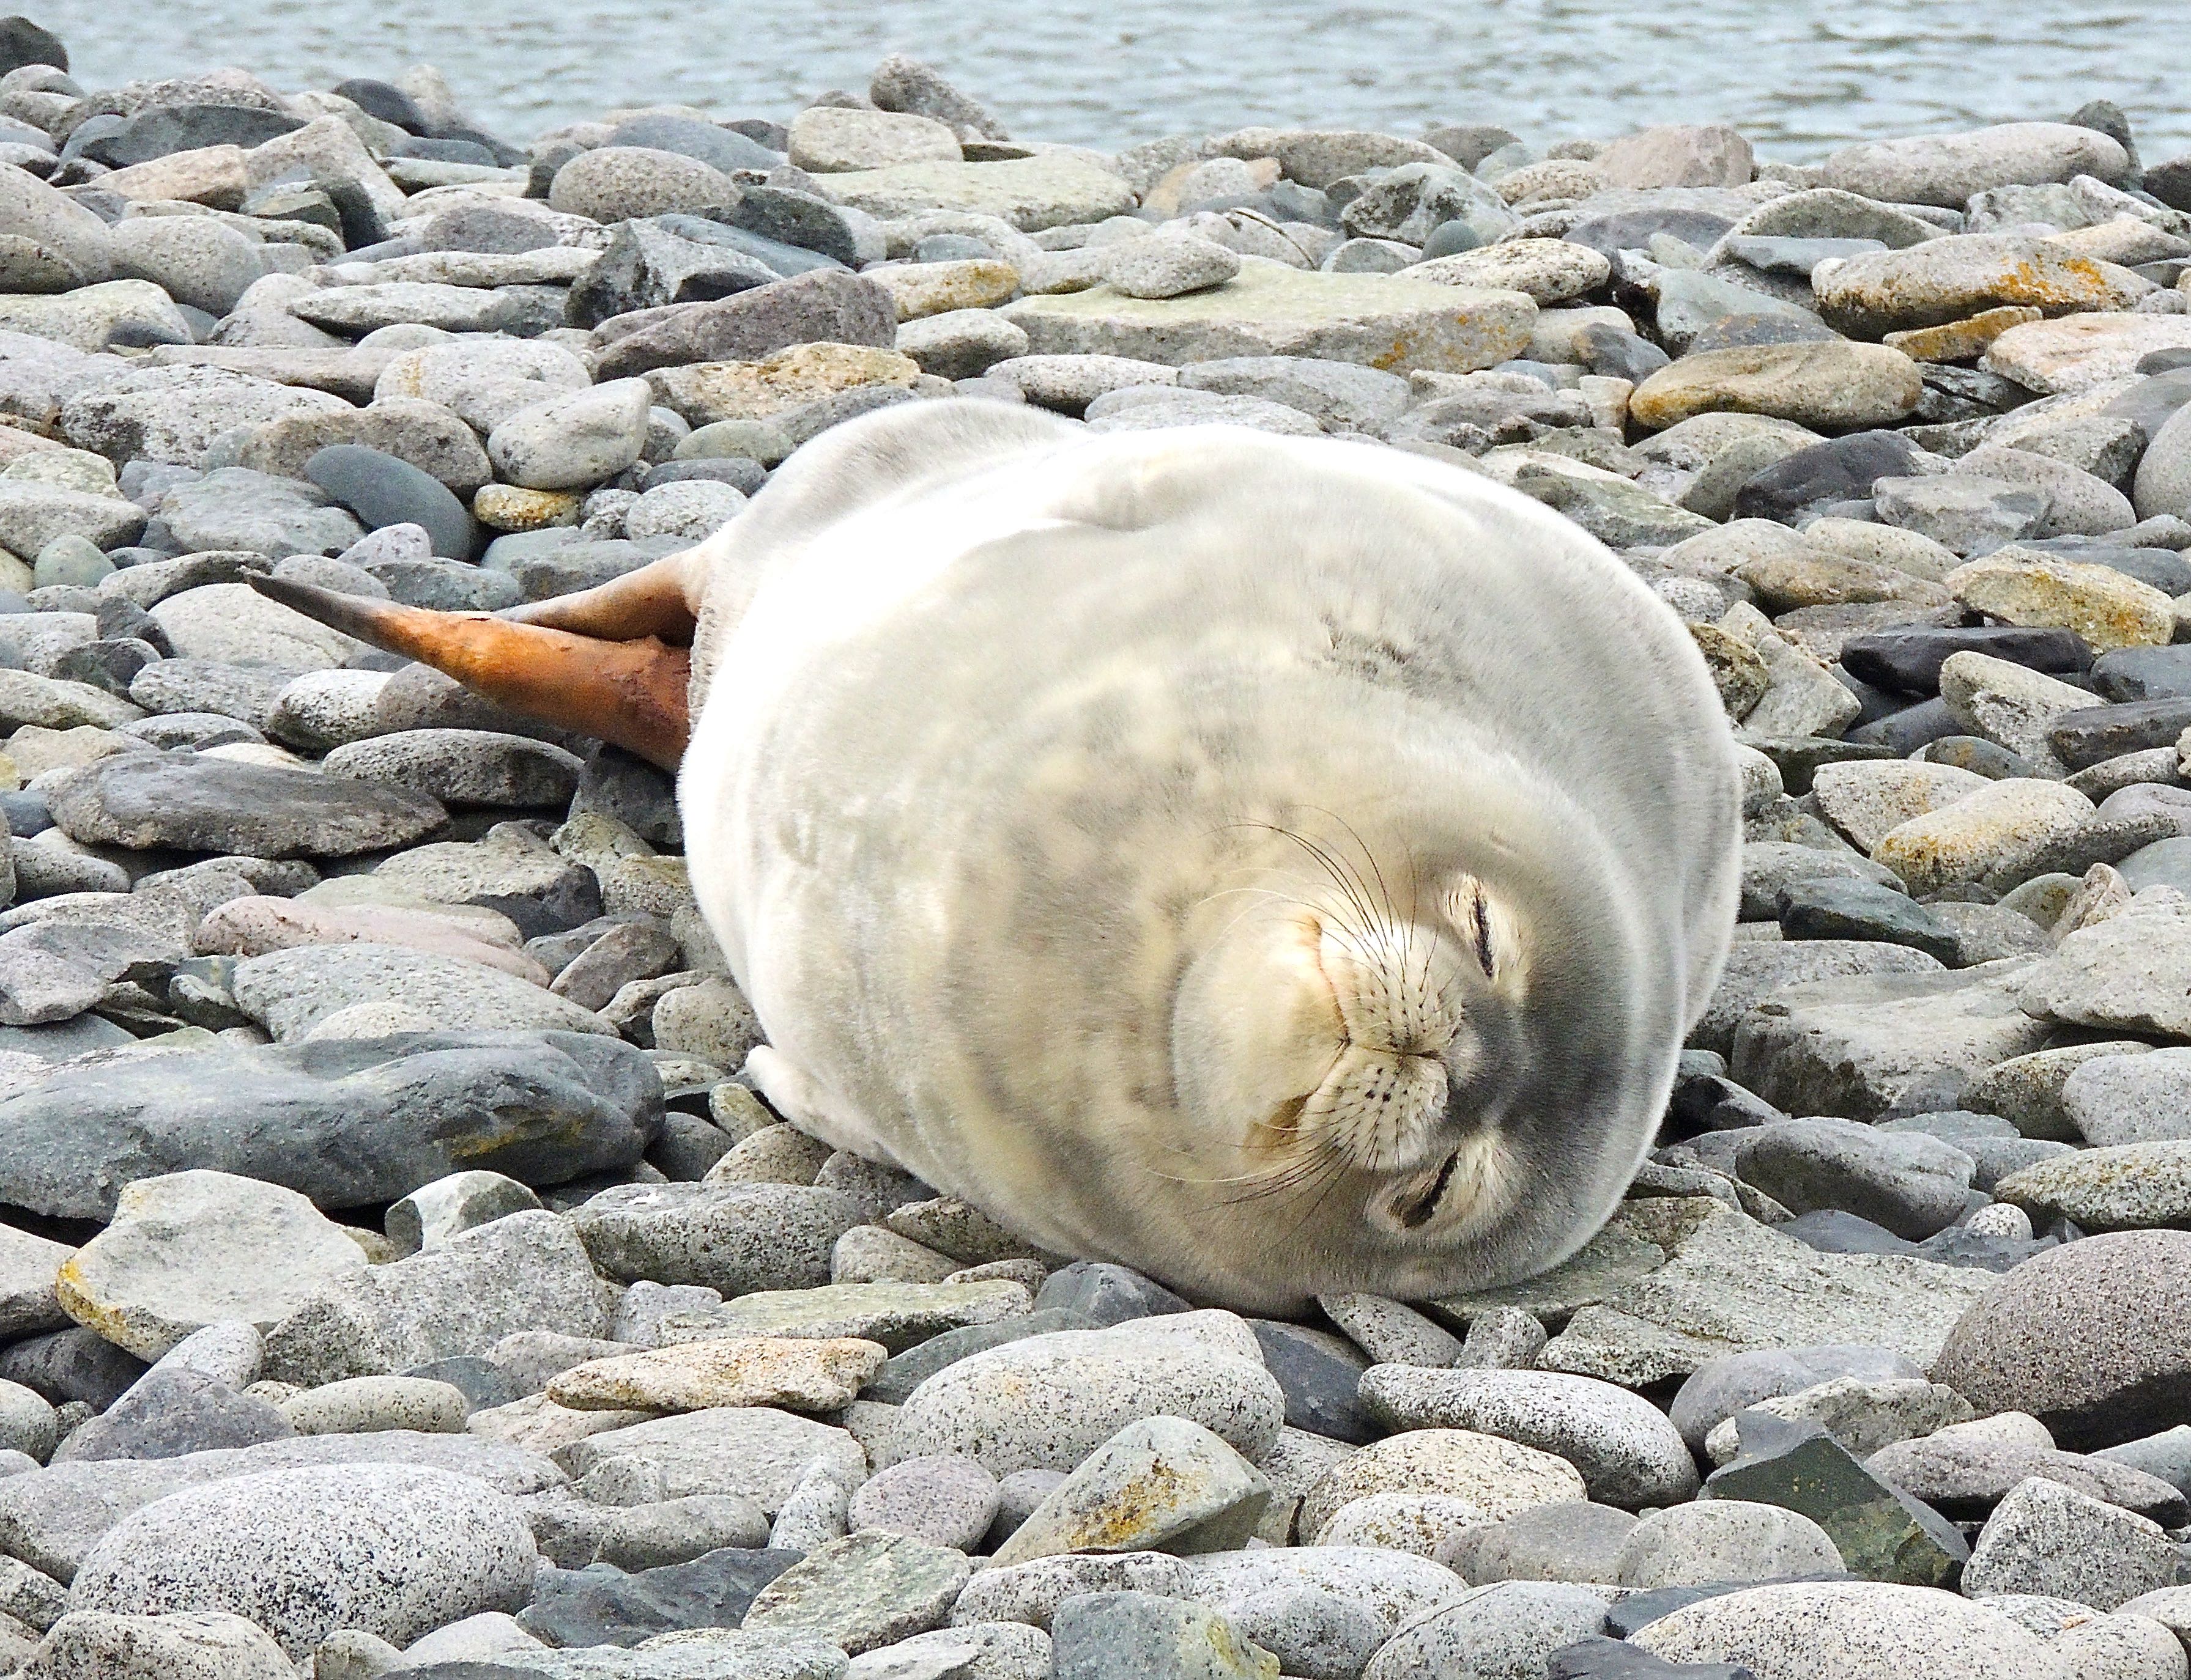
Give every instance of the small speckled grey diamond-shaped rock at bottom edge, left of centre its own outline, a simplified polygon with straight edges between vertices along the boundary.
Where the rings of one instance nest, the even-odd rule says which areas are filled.
[[[769,1581],[741,1625],[870,1652],[942,1625],[968,1573],[966,1557],[949,1546],[901,1533],[854,1533],[811,1551]]]

